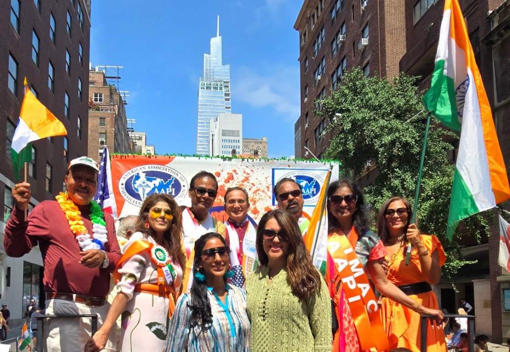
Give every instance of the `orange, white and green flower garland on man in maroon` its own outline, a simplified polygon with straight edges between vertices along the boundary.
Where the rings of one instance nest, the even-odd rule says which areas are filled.
[[[60,209],[64,212],[69,228],[78,241],[80,248],[82,250],[105,250],[105,243],[108,242],[108,232],[106,230],[105,214],[101,207],[94,200],[91,200],[90,220],[92,221],[93,236],[90,236],[82,220],[82,213],[74,202],[69,199],[69,194],[60,192],[55,199],[57,199]]]

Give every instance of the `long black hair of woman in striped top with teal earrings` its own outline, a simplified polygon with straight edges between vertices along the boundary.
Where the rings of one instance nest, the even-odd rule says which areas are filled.
[[[202,250],[207,241],[211,238],[219,238],[226,247],[225,239],[216,232],[209,232],[200,236],[195,241],[195,259],[193,260],[193,272],[200,272],[205,275],[203,268],[200,268],[202,262]],[[223,276],[226,283],[226,279]],[[213,323],[213,314],[211,313],[211,303],[207,293],[207,283],[205,281],[193,280],[190,289],[190,303],[188,307],[191,309],[191,326],[201,326],[202,331],[208,330]]]

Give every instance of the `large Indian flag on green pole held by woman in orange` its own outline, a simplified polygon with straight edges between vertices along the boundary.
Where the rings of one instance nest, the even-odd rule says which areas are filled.
[[[458,223],[510,198],[491,107],[457,0],[445,0],[427,110],[460,131],[447,235]]]

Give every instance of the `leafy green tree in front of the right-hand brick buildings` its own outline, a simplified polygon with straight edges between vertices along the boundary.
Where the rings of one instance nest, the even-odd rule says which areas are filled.
[[[325,158],[340,160],[341,172],[353,179],[375,168],[371,171],[375,179],[364,189],[373,215],[392,196],[401,195],[411,202],[414,199],[426,122],[416,82],[416,77],[404,73],[392,82],[366,78],[361,69],[355,68],[316,111],[316,115],[329,119],[326,133],[334,135],[323,154]],[[432,125],[417,211],[420,230],[438,235],[445,247],[448,261],[443,273],[447,276],[467,263],[460,259],[458,235],[451,243],[446,238],[454,171],[450,159],[456,139],[440,124]],[[478,238],[488,231],[487,224],[480,220],[483,218],[470,219],[464,227]]]

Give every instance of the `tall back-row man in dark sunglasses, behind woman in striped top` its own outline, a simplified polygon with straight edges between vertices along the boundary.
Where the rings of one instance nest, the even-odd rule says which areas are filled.
[[[218,194],[218,181],[211,172],[200,171],[191,178],[188,195],[191,207],[181,207],[183,212],[184,246],[186,248],[186,272],[191,273],[193,266],[193,248],[195,241],[208,232],[216,232],[225,237],[225,225],[211,216],[211,210]],[[186,279],[185,279],[186,280]],[[187,288],[191,287],[193,278],[188,275]]]

